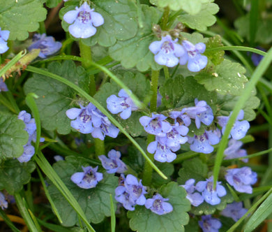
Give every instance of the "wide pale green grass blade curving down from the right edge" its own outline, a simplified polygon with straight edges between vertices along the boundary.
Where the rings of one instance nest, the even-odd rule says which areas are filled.
[[[240,110],[243,108],[245,101],[248,100],[248,97],[250,96],[252,89],[254,89],[255,85],[257,84],[259,78],[262,77],[262,75],[266,71],[266,68],[268,68],[269,64],[271,63],[271,60],[272,60],[272,48],[269,50],[269,52],[267,52],[266,57],[262,59],[262,61],[259,63],[259,66],[257,66],[255,72],[252,74],[252,77],[250,78],[248,85],[245,87],[245,89],[243,90],[243,93],[241,94],[240,99],[236,102],[234,106],[232,115],[229,117],[229,121],[227,122],[227,126],[225,129],[225,133],[222,136],[222,140],[220,142],[220,145],[218,147],[218,152],[216,154],[216,161],[213,168],[214,187],[216,187],[216,182],[218,180],[220,166],[222,164],[222,159],[224,156],[224,150],[227,147],[229,133],[232,130],[232,126],[234,125],[236,117],[239,114]]]

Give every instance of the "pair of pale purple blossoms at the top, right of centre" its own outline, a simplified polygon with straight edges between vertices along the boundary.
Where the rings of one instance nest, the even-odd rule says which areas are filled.
[[[155,54],[155,61],[160,65],[174,67],[177,64],[187,64],[187,67],[192,72],[198,72],[205,68],[208,63],[208,58],[201,55],[206,50],[204,43],[193,45],[189,41],[182,41],[182,44],[174,41],[171,36],[162,37],[161,41],[154,41],[149,45],[149,50]]]

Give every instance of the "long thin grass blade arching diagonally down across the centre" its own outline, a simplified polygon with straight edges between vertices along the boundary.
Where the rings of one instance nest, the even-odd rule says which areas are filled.
[[[95,63],[93,63],[93,64],[95,64]],[[103,66],[99,66],[97,64],[96,64],[96,66],[102,67],[103,70],[107,71],[107,69],[105,69]],[[164,179],[167,179],[167,177],[160,171],[160,169],[151,161],[151,159],[149,159],[149,157],[146,155],[146,153],[144,152],[144,150],[142,149],[142,147],[140,147],[139,144],[135,141],[135,139],[133,137],[131,137],[128,132],[126,132],[126,130],[123,128],[123,126],[121,126],[121,124],[119,122],[117,122],[116,119],[114,119],[114,117],[112,117],[112,115],[110,115],[107,112],[107,110],[105,108],[103,108],[103,106],[101,106],[100,103],[98,103],[98,101],[96,101],[96,99],[93,99],[93,97],[91,97],[89,94],[87,94],[86,92],[84,92],[84,90],[82,90],[80,87],[78,87],[77,85],[75,85],[73,82],[70,82],[69,80],[66,80],[65,78],[61,78],[61,76],[59,76],[59,75],[56,75],[54,73],[50,73],[48,71],[45,71],[45,70],[42,70],[40,68],[36,68],[36,67],[33,67],[33,66],[28,66],[26,69],[27,69],[27,71],[31,71],[33,73],[38,73],[38,74],[41,74],[41,75],[45,75],[45,76],[48,76],[48,77],[53,78],[55,80],[59,80],[60,82],[63,82],[64,84],[68,85],[69,87],[75,89],[75,91],[77,91],[86,100],[88,100],[91,103],[93,103],[93,105],[96,106],[96,108],[98,108],[104,115],[106,115],[108,117],[108,119],[115,126],[117,126],[120,129],[120,131],[131,141],[131,143],[133,143],[133,145],[135,145],[135,147],[137,147],[137,149],[139,150],[139,152],[142,153],[142,155],[144,156],[144,158],[146,159],[146,161],[149,162],[149,164],[153,167],[153,169],[161,177],[163,177]],[[113,75],[110,72],[107,73],[107,74]],[[114,75],[114,77],[116,78],[115,75]],[[126,87],[126,89],[128,89],[128,88]]]

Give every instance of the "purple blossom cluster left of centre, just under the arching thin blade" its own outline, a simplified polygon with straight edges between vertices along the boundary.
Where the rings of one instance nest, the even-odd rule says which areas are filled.
[[[71,121],[71,126],[80,133],[91,133],[93,138],[100,140],[104,140],[105,136],[112,138],[118,136],[119,129],[92,103],[86,107],[80,105],[80,108],[71,108],[66,111],[66,115],[70,119],[75,119]]]

